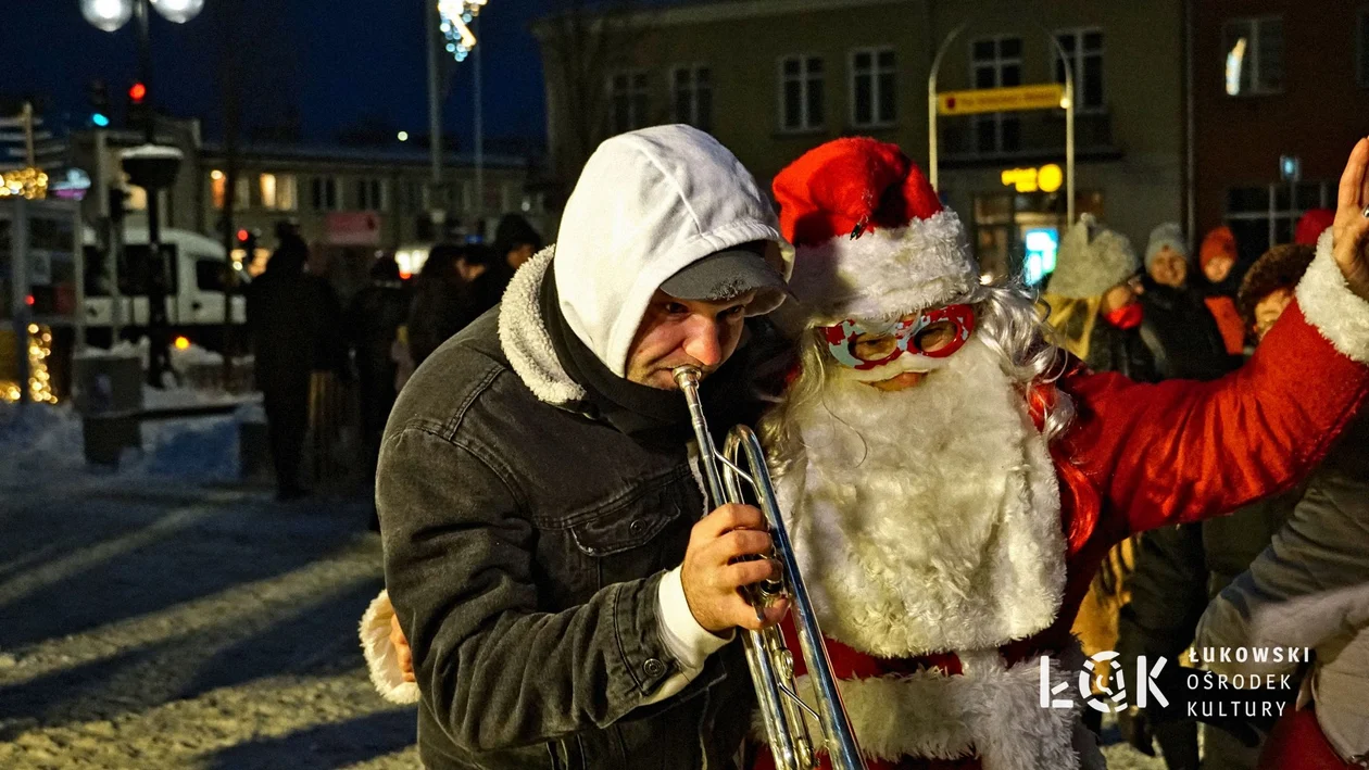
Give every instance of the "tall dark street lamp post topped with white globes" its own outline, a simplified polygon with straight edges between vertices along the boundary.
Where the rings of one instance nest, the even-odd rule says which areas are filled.
[[[123,167],[133,183],[148,193],[148,257],[153,274],[148,291],[148,338],[152,343],[148,356],[148,384],[162,387],[162,375],[171,367],[168,350],[171,341],[166,308],[170,287],[162,254],[162,201],[159,193],[175,179],[181,153],[174,148],[156,146],[156,114],[149,98],[153,8],[166,21],[183,25],[200,15],[200,11],[204,10],[204,0],[81,0],[81,14],[92,25],[105,31],[115,31],[130,18],[138,18],[138,81],[134,83],[138,96],[130,92],[130,97],[141,103],[145,109],[146,119],[142,131],[146,144],[126,152]]]

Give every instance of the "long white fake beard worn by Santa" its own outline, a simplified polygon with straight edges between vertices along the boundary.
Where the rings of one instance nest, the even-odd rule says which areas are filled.
[[[790,420],[806,458],[779,502],[824,635],[893,658],[997,647],[1054,621],[1055,470],[979,338],[904,391],[838,373]]]

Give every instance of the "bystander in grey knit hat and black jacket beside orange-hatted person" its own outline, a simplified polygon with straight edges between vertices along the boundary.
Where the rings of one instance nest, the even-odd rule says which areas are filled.
[[[1165,223],[1151,231],[1146,274],[1140,301],[1154,332],[1151,351],[1162,379],[1212,380],[1239,364],[1227,353],[1216,319],[1190,284],[1188,246],[1177,224]]]

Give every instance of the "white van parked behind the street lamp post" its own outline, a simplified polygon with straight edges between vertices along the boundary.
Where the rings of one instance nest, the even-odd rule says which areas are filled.
[[[148,230],[125,228],[123,258],[119,263],[120,324],[125,338],[145,334],[148,327]],[[94,230],[85,228],[85,324],[93,345],[107,345],[114,317],[110,276],[97,248]],[[162,250],[167,254],[170,284],[167,321],[172,335],[216,350],[223,338],[223,276],[229,268],[223,243],[188,230],[162,230]],[[233,324],[246,323],[248,276],[238,271],[233,294]]]

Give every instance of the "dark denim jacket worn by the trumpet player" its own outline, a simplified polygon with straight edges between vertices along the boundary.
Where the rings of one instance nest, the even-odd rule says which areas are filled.
[[[642,446],[534,395],[530,380],[548,386],[535,369],[550,362],[537,360],[535,334],[511,338],[539,319],[497,317],[528,310],[507,297],[439,347],[386,429],[385,576],[423,693],[422,759],[731,767],[753,703],[738,643],[682,692],[642,706],[679,670],[657,585],[704,512],[687,450]]]

